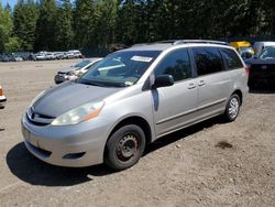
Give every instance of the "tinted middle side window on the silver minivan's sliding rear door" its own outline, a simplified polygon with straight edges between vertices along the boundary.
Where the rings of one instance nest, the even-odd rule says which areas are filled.
[[[193,48],[198,76],[213,74],[223,70],[221,54],[213,47]]]

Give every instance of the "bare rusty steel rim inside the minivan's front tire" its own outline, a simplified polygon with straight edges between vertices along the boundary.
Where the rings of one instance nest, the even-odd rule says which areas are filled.
[[[117,146],[117,156],[120,161],[127,162],[136,155],[138,148],[139,142],[135,135],[124,135]]]

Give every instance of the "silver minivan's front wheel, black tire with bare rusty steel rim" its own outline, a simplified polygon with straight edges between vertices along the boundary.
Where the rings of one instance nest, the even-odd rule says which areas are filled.
[[[136,164],[145,149],[145,134],[135,124],[117,130],[107,141],[105,163],[116,171]]]

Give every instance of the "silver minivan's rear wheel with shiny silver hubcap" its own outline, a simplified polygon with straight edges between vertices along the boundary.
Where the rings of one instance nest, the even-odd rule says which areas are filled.
[[[237,119],[240,112],[241,101],[237,94],[233,94],[227,105],[226,111],[223,113],[224,119],[228,122],[232,122]]]

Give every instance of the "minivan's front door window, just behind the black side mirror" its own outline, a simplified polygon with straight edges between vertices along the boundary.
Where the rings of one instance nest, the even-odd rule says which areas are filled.
[[[191,77],[191,65],[187,50],[170,52],[155,69],[155,76],[172,75],[175,81]]]

